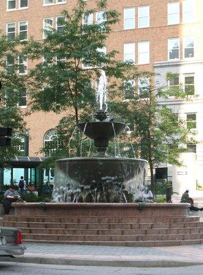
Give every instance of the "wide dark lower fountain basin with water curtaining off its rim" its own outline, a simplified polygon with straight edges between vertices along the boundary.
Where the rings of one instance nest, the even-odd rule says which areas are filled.
[[[143,159],[58,159],[52,197],[56,202],[131,202],[145,185],[146,173]]]

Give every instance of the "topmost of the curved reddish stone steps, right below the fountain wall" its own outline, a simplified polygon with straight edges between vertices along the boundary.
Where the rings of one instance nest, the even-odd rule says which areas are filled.
[[[4,216],[4,221],[29,221],[43,223],[182,223],[199,221],[199,216],[192,217],[131,217],[131,218],[108,218],[108,217],[21,217]]]

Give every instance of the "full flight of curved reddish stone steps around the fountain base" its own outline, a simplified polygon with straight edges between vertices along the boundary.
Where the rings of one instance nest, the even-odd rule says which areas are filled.
[[[200,217],[4,216],[0,225],[21,229],[23,241],[86,245],[166,246],[203,243]]]

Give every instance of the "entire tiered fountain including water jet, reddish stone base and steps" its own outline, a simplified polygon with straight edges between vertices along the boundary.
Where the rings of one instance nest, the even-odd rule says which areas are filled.
[[[147,162],[106,154],[109,140],[125,124],[109,120],[106,78],[98,85],[96,121],[78,124],[94,140],[97,154],[56,161],[52,203],[13,203],[14,217],[1,225],[18,226],[25,241],[160,246],[202,243],[203,223],[187,217],[188,203],[134,202],[145,184]]]

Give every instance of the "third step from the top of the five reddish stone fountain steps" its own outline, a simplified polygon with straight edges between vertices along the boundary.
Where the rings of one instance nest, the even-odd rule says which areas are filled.
[[[23,234],[41,234],[41,228],[21,228]],[[43,234],[65,234],[65,235],[151,235],[151,234],[203,234],[203,228],[175,228],[175,229],[64,229],[43,228]]]

